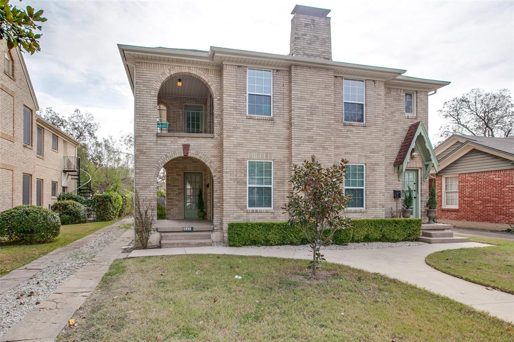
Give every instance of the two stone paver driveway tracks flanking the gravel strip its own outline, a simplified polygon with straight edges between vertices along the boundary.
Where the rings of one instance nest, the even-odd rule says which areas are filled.
[[[118,226],[131,219],[118,221],[109,226]],[[41,270],[49,267],[75,249],[99,237],[109,227],[57,249],[24,267],[14,270],[0,278],[0,293],[14,288]],[[127,230],[114,242],[100,251],[87,264],[71,275],[45,300],[34,307],[22,320],[0,337],[0,342],[7,341],[53,341],[66,326],[68,319],[80,308],[86,298],[95,290],[109,265],[122,257],[121,247],[126,246],[134,237],[133,230]],[[126,254],[125,254],[126,256]]]

